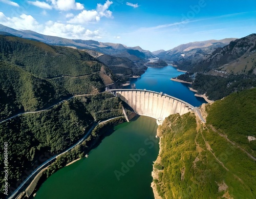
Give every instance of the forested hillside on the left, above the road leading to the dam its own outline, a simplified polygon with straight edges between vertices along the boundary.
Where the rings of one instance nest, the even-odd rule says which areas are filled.
[[[88,53],[0,35],[0,119],[72,95],[99,93],[116,79]]]

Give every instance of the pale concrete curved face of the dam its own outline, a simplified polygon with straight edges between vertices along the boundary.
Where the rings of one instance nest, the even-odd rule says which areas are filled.
[[[129,104],[141,116],[164,120],[171,114],[186,114],[195,107],[167,94],[146,90],[119,89],[110,90],[115,96]]]

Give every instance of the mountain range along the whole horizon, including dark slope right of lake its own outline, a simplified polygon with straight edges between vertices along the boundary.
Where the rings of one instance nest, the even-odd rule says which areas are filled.
[[[140,47],[126,47],[120,43],[66,39],[29,30],[14,30],[3,25],[0,25],[0,34],[83,50],[107,65],[119,76],[121,82],[127,81],[132,75],[143,74],[146,67],[150,66],[145,64],[148,59],[158,57],[160,62],[168,61],[179,70],[187,71],[188,73],[178,79],[193,82],[191,87],[197,90],[198,94],[206,94],[212,100],[256,86],[256,34],[240,39],[190,42],[168,51],[158,50],[153,53]],[[18,60],[16,62],[20,64]]]

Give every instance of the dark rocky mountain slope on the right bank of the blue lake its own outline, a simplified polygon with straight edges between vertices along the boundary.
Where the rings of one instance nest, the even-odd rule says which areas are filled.
[[[231,41],[208,58],[188,65],[187,73],[177,78],[192,82],[198,94],[211,100],[222,99],[233,92],[256,87],[256,34]],[[184,65],[178,65],[183,69]]]

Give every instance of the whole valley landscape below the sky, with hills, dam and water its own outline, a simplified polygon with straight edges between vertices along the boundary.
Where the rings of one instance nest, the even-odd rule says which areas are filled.
[[[142,172],[141,168],[131,166],[131,176],[125,175],[126,180],[119,182],[113,179],[114,165],[108,160],[98,163],[97,158],[112,151],[109,156],[115,154],[119,159],[111,162],[120,166],[119,162],[123,161],[120,143],[129,147],[137,143],[135,153],[137,147],[144,147],[147,136],[156,134],[160,142],[154,139],[154,150],[152,153],[148,150],[144,157],[150,160],[138,163],[146,168],[137,185],[142,183],[143,188],[138,189],[137,195],[132,191],[125,193],[127,198],[255,197],[256,142],[248,141],[248,136],[256,136],[253,121],[256,113],[255,34],[240,39],[187,43],[152,53],[120,43],[65,39],[3,25],[0,31],[0,139],[11,146],[8,183],[9,193],[14,194],[10,198],[19,193],[22,193],[20,198],[27,198],[25,189],[32,178],[28,183],[25,181],[30,175],[34,177],[41,165],[45,170],[38,184],[33,185],[38,191],[36,198],[58,197],[65,185],[61,185],[54,196],[55,189],[51,190],[49,183],[72,177],[72,170],[80,164],[101,176],[108,185],[113,183],[112,188],[123,190],[136,178],[137,171]],[[176,77],[183,83],[170,80]],[[123,85],[127,81],[130,85]],[[129,89],[136,90],[124,92]],[[116,91],[118,97],[109,90]],[[206,101],[192,91],[214,102],[203,104]],[[162,119],[163,123],[157,127],[156,120],[137,118],[135,113],[154,115],[153,118]],[[129,120],[131,122],[126,123]],[[133,131],[134,125],[140,130]],[[131,126],[127,132],[125,126]],[[124,131],[127,140],[120,136]],[[108,144],[104,144],[105,140]],[[110,149],[115,145],[120,154]],[[89,158],[84,158],[89,153]],[[3,163],[1,161],[1,167]],[[108,171],[104,172],[105,169]],[[148,177],[152,169],[155,196],[150,192],[152,179]],[[63,174],[65,170],[69,176]],[[243,172],[245,170],[248,172]],[[76,172],[90,176],[88,170]],[[99,182],[91,178],[94,175],[88,184]],[[81,179],[78,181],[81,184]],[[1,179],[2,190],[3,182]],[[20,184],[25,186],[17,190]],[[92,194],[101,198],[104,191],[100,194],[99,190],[105,186],[100,183],[98,186],[97,196],[88,186],[88,194],[81,191],[76,197]],[[108,190],[105,194],[112,197],[115,191],[111,187]],[[34,189],[29,191],[29,198],[32,193]],[[3,191],[1,194],[4,198]],[[72,196],[72,193],[65,194]],[[119,197],[121,192],[115,194]]]

